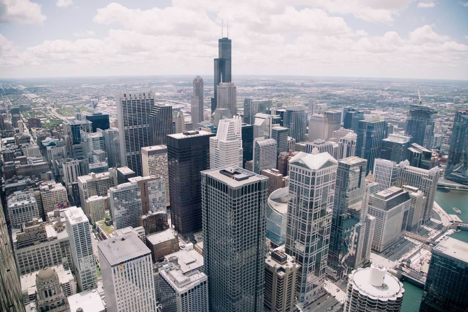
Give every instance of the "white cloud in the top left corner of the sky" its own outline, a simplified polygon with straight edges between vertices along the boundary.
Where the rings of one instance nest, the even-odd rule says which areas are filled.
[[[0,0],[0,23],[42,25],[47,19],[41,5],[29,0]]]

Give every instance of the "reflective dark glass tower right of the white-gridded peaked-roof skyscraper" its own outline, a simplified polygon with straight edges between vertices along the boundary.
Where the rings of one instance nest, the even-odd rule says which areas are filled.
[[[366,247],[366,162],[358,157],[338,160],[327,263],[335,280],[366,262],[362,259]]]

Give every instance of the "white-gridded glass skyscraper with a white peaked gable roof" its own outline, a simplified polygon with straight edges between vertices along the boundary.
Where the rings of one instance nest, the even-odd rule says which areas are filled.
[[[289,160],[285,252],[301,265],[298,298],[310,300],[323,290],[338,162],[329,153],[299,152]],[[309,218],[308,216],[312,216]]]

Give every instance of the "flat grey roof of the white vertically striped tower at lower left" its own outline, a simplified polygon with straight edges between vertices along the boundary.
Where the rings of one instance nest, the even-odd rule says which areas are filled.
[[[149,248],[133,233],[102,240],[97,243],[97,247],[111,266],[151,254]]]

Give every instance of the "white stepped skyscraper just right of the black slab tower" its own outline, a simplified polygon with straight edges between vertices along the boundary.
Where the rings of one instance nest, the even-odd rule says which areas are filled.
[[[242,167],[241,120],[221,119],[216,137],[210,138],[210,169],[236,165]]]

